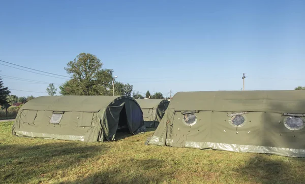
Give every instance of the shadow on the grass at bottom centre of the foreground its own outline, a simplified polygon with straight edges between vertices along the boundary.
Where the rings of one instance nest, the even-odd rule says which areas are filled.
[[[164,164],[158,159],[130,159],[111,169],[62,183],[160,183],[174,177],[174,171],[164,169]]]

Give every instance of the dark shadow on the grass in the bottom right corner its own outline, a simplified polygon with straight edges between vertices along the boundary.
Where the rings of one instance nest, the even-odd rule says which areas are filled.
[[[304,158],[277,158],[259,154],[236,169],[238,177],[255,183],[303,183]]]

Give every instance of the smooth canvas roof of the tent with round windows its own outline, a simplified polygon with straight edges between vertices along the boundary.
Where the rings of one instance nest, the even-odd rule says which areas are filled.
[[[169,108],[175,111],[249,111],[305,113],[305,92],[290,91],[201,91],[178,92]]]

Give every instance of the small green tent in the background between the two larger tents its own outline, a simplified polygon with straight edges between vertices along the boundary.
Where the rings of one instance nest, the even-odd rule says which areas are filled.
[[[169,101],[162,99],[136,99],[139,103],[146,128],[157,127],[165,114]]]

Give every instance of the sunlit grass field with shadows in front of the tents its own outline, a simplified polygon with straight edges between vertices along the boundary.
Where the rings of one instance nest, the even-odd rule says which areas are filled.
[[[114,142],[21,138],[0,123],[1,183],[305,183],[305,159]],[[123,136],[123,135],[122,135]]]

